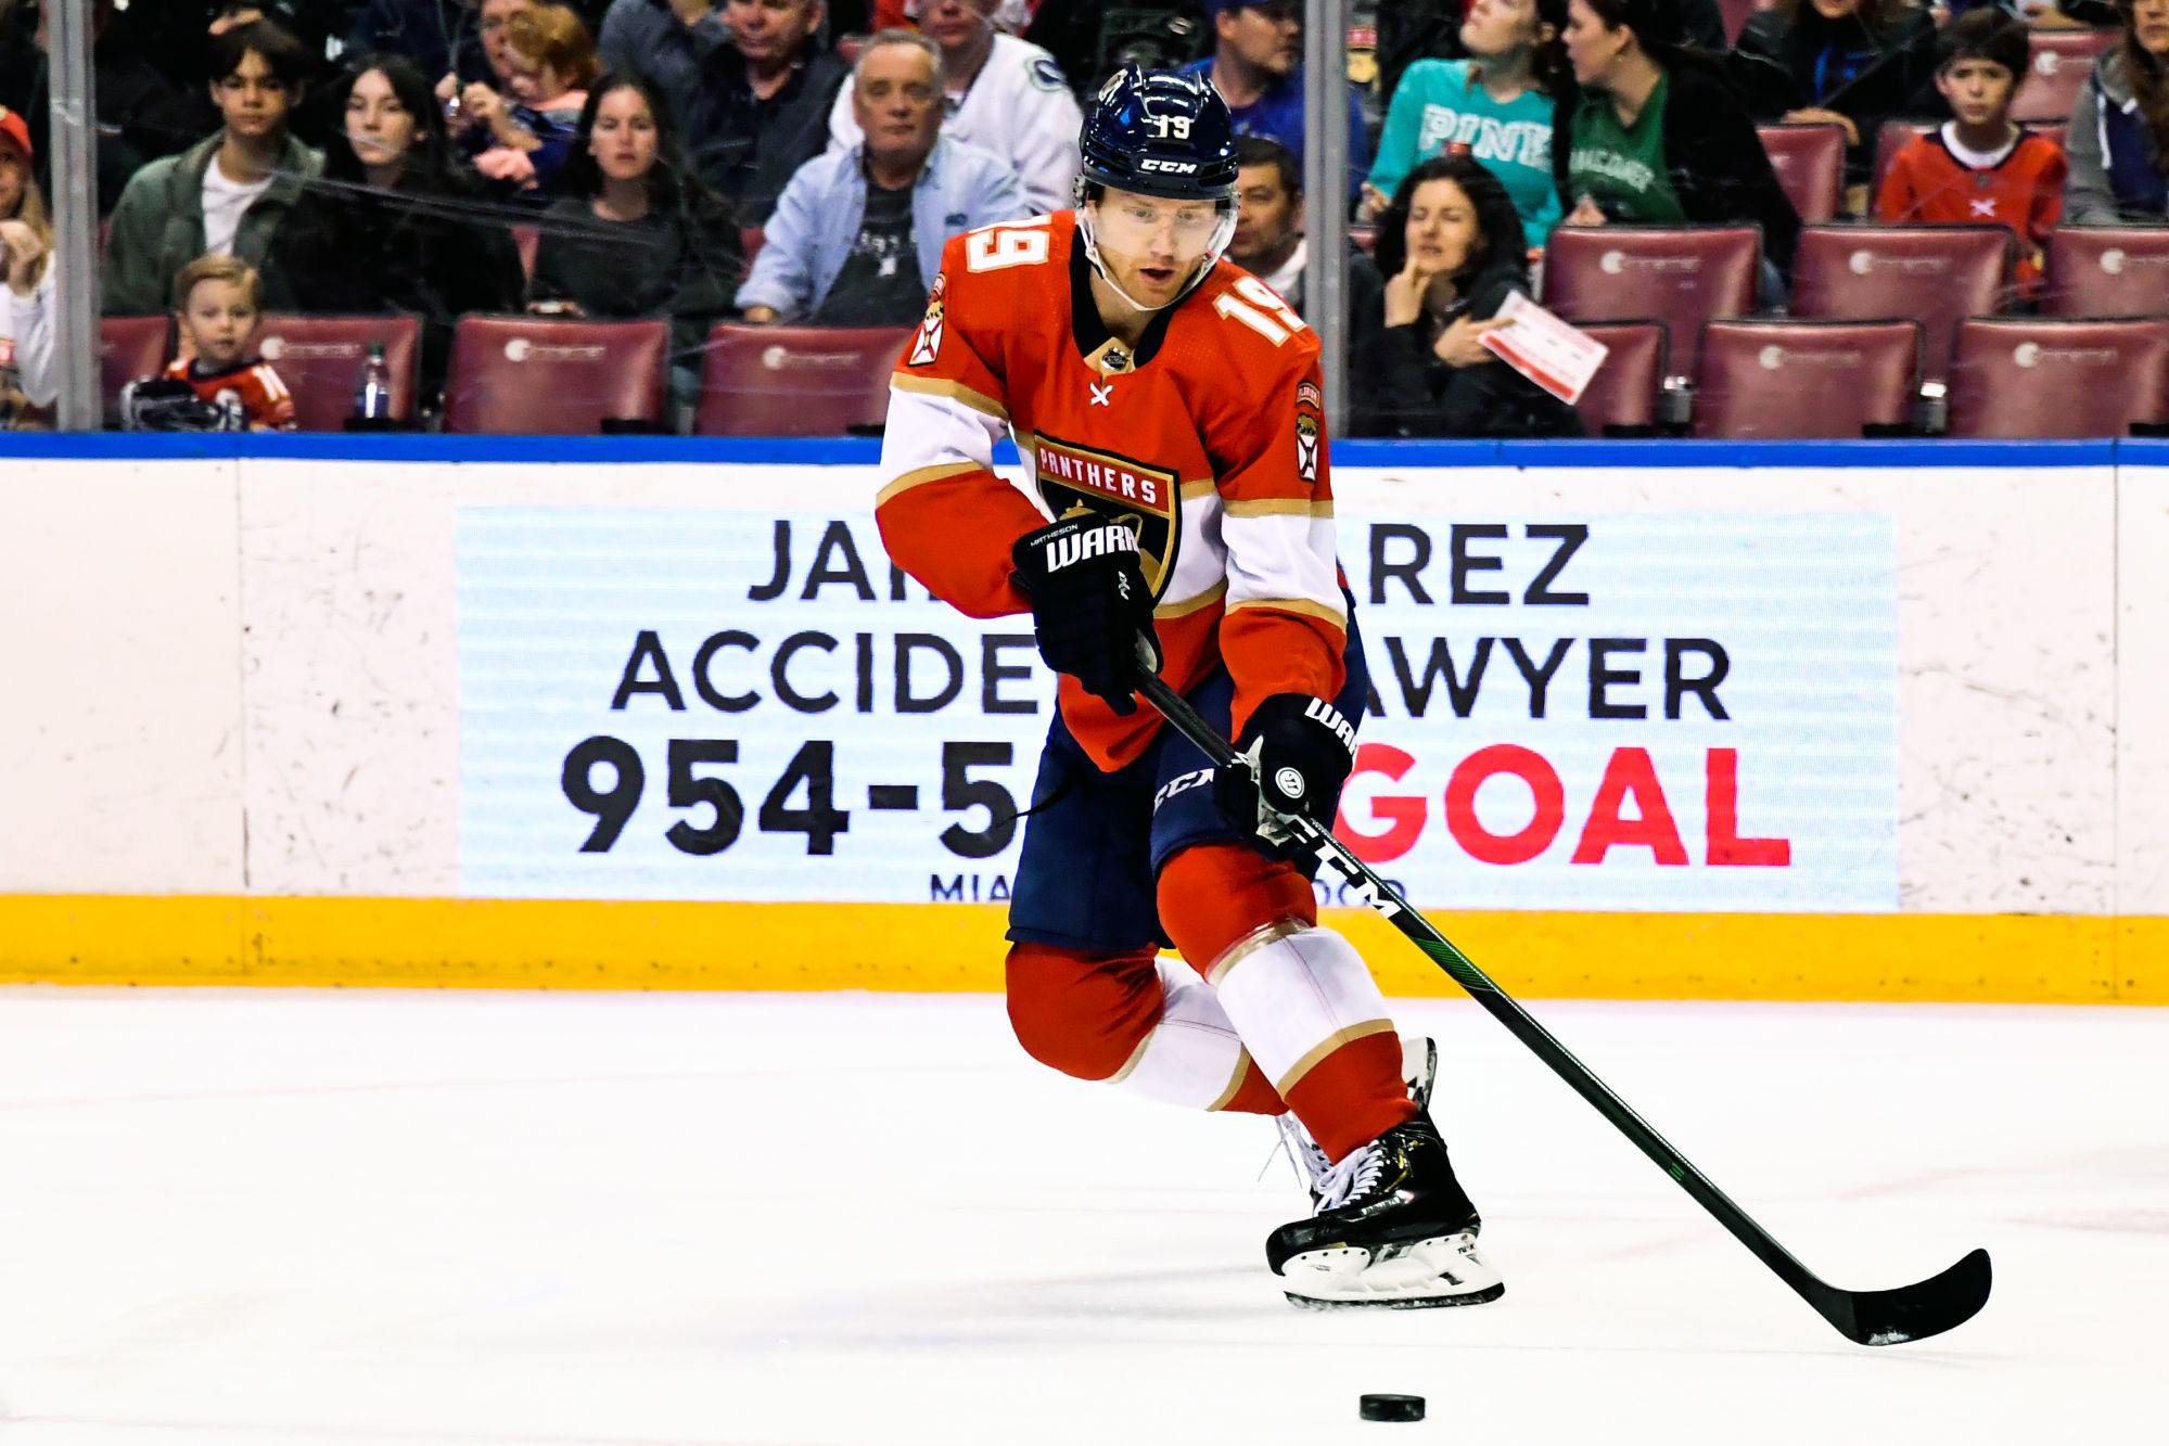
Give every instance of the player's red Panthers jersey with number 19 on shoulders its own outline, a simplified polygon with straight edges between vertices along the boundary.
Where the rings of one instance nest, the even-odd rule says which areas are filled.
[[[1028,486],[991,466],[1004,431]],[[1189,689],[1225,661],[1236,731],[1271,694],[1332,698],[1345,681],[1319,343],[1232,262],[1132,356],[1091,301],[1076,212],[952,238],[889,382],[881,470],[889,557],[974,618],[1030,611],[1011,544],[1091,509],[1139,529],[1163,676]],[[1061,709],[1102,767],[1158,726],[1067,676]]]

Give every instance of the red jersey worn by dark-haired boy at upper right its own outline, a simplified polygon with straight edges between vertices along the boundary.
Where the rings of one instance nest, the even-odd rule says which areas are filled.
[[[1950,150],[1950,124],[1907,141],[1876,195],[1876,221],[2008,225],[2019,236],[2017,282],[2041,284],[2041,247],[2063,217],[2069,163],[2048,137],[2022,132],[1995,165],[1967,165]]]

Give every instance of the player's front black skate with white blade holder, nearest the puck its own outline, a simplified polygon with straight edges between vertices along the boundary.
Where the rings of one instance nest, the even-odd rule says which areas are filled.
[[[1327,1166],[1323,1186],[1321,1199],[1332,1203],[1265,1242],[1267,1264],[1295,1305],[1421,1309],[1505,1294],[1499,1273],[1477,1255],[1484,1221],[1427,1116]]]

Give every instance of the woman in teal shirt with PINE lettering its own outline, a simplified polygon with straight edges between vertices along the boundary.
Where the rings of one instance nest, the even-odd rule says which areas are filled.
[[[1551,180],[1553,102],[1566,78],[1566,0],[1475,0],[1462,22],[1466,61],[1416,61],[1386,111],[1364,206],[1386,197],[1419,160],[1464,145],[1505,184],[1531,245],[1560,219]]]

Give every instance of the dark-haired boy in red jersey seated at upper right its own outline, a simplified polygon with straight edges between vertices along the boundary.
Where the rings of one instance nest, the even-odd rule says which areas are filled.
[[[2026,76],[2026,22],[1987,7],[1943,30],[1935,89],[1956,119],[1913,137],[1876,195],[1878,221],[2002,223],[2019,236],[2022,295],[2041,291],[2041,249],[2063,215],[2065,160],[2056,143],[2011,119]]]

